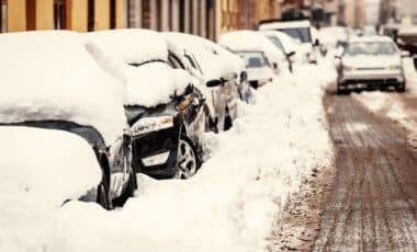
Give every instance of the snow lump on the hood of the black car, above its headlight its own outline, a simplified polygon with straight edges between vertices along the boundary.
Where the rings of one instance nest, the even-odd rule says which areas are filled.
[[[196,84],[196,79],[182,69],[172,69],[165,62],[156,61],[125,69],[125,105],[156,106],[167,104],[171,96],[184,91],[188,84]]]

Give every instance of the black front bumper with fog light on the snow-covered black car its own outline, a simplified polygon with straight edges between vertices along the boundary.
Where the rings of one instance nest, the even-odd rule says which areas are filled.
[[[168,128],[134,136],[132,152],[135,172],[157,179],[176,174],[179,129]]]

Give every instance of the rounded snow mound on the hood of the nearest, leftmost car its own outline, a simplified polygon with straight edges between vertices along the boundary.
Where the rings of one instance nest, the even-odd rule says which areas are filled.
[[[0,126],[0,142],[2,218],[59,207],[100,183],[101,169],[92,148],[75,134]]]

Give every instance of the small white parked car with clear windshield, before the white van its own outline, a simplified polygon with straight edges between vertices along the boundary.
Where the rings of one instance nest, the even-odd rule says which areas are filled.
[[[260,50],[240,50],[235,51],[246,62],[249,84],[253,89],[258,89],[264,84],[271,83],[274,73],[271,65],[263,51]]]

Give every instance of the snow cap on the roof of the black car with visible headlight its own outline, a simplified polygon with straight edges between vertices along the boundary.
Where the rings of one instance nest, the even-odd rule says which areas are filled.
[[[105,54],[125,64],[168,60],[168,47],[159,33],[142,28],[110,30],[86,33]]]

